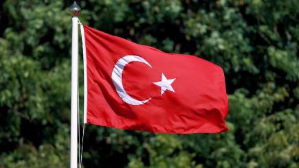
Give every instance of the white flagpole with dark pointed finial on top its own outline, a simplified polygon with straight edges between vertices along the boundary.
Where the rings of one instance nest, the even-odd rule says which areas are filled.
[[[70,167],[78,164],[78,14],[80,7],[76,1],[69,7],[72,22],[71,35],[71,158]]]

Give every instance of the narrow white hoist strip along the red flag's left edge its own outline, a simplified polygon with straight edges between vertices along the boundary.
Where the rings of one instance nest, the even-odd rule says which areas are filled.
[[[82,37],[82,49],[83,49],[83,71],[84,71],[84,110],[83,110],[83,122],[87,123],[87,62],[86,62],[86,45],[84,27],[80,24],[81,37]]]

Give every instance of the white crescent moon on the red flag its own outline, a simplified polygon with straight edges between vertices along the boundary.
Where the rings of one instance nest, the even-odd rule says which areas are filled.
[[[122,85],[122,71],[124,71],[124,66],[126,64],[129,64],[130,62],[137,61],[142,62],[144,64],[147,64],[149,67],[151,67],[151,64],[149,64],[146,60],[141,58],[140,56],[124,56],[116,62],[114,69],[112,71],[112,82],[116,88],[116,91],[118,92],[118,95],[120,95],[120,98],[122,98],[123,101],[125,101],[127,104],[131,105],[140,105],[145,104],[147,101],[149,101],[151,98],[146,100],[137,100],[128,95],[126,91],[124,90],[124,86]],[[152,67],[151,67],[152,68]]]

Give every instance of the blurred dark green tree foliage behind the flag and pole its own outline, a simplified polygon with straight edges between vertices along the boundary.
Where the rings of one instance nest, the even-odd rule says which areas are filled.
[[[69,166],[71,3],[0,1],[0,167]],[[299,167],[299,0],[78,4],[91,27],[219,64],[230,102],[222,134],[87,125],[85,167]]]

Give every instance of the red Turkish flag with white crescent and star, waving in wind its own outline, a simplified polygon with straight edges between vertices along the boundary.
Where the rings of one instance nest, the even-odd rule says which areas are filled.
[[[195,56],[138,45],[87,25],[83,35],[85,122],[179,134],[228,130],[221,67]]]

